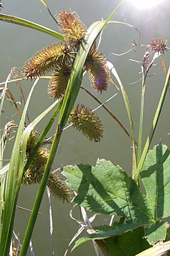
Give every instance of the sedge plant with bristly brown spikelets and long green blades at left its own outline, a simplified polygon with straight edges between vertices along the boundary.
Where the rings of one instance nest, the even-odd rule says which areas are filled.
[[[42,2],[46,6],[46,3],[44,1]],[[7,164],[6,168],[1,168],[2,200],[0,203],[0,251],[2,256],[8,255],[10,250],[15,210],[17,207],[16,204],[20,186],[22,184],[40,183],[40,187],[37,192],[35,204],[33,205],[31,217],[25,232],[20,255],[27,254],[28,245],[31,240],[33,228],[35,226],[35,221],[46,186],[57,199],[65,201],[70,194],[65,183],[59,180],[59,177],[52,171],[54,156],[56,155],[59,139],[61,138],[62,131],[67,120],[69,119],[69,122],[72,123],[76,129],[81,130],[91,141],[97,142],[100,141],[101,137],[103,137],[103,125],[97,115],[84,105],[78,105],[74,109],[73,107],[78,96],[84,72],[89,73],[92,87],[96,92],[103,92],[108,88],[110,72],[107,66],[107,61],[103,53],[99,52],[97,49],[95,41],[122,2],[120,2],[107,20],[95,22],[88,29],[86,29],[86,26],[80,21],[75,12],[63,10],[57,15],[57,20],[55,19],[60,30],[63,32],[63,35],[40,26],[39,24],[29,22],[28,20],[0,14],[0,20],[3,22],[15,23],[45,32],[46,34],[52,35],[62,41],[60,43],[54,43],[52,46],[48,46],[37,52],[34,57],[25,63],[23,68],[24,77],[22,79],[36,80],[31,88],[27,101],[25,102],[10,163]],[[126,24],[114,21],[112,21],[112,23]],[[133,27],[129,24],[127,25]],[[35,89],[39,78],[46,72],[52,70],[54,73],[50,78],[48,92],[50,97],[53,97],[56,101],[42,114],[40,114],[39,117],[25,127],[25,117],[27,115],[27,108],[33,90]],[[7,92],[8,82],[22,80],[10,80],[10,76],[11,74],[5,82],[5,87],[3,88],[1,95],[1,108]],[[45,127],[40,137],[37,138],[35,126],[47,113],[50,112],[50,110],[55,107],[56,110],[50,118],[48,125]],[[108,109],[107,111],[109,112]],[[58,114],[56,134],[53,139],[52,147],[50,148],[50,151],[48,151],[40,147],[40,145]],[[121,124],[113,114],[112,117],[117,123]],[[88,129],[89,126],[91,126],[92,129]],[[126,131],[122,124],[121,127]],[[126,134],[129,133],[126,131]],[[134,138],[132,139],[134,140]],[[2,158],[3,149],[1,148],[1,159]],[[6,170],[8,172],[6,172]],[[3,179],[4,172],[5,179]]]

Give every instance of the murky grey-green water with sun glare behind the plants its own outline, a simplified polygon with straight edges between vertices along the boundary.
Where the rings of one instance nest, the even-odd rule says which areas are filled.
[[[33,22],[42,24],[46,27],[52,28],[58,31],[58,27],[50,18],[45,7],[40,1],[4,1],[3,13],[20,16],[21,18],[32,20]],[[114,0],[86,0],[86,1],[48,1],[50,10],[61,11],[63,9],[71,9],[77,11],[82,21],[86,23],[87,27],[90,26],[95,20],[104,19],[111,14],[111,11],[116,7],[120,1]],[[169,26],[170,26],[170,8],[167,1],[163,1],[158,7],[139,10],[132,7],[125,1],[124,5],[117,11],[113,19],[120,20],[122,22],[128,22],[138,27],[141,31],[141,43],[148,44],[154,38],[165,38],[170,42]],[[10,69],[12,67],[21,67],[24,62],[29,59],[36,51],[48,46],[55,42],[55,38],[42,34],[41,32],[33,31],[28,28],[15,26],[14,24],[0,23],[1,28],[1,81],[5,81]],[[103,33],[103,39],[100,45],[100,50],[107,56],[108,60],[114,64],[118,74],[126,88],[129,96],[130,105],[134,118],[134,126],[136,137],[138,135],[138,122],[139,122],[139,107],[140,107],[140,95],[141,95],[141,83],[138,82],[134,85],[129,83],[140,79],[141,71],[140,64],[134,63],[129,59],[142,60],[142,57],[146,51],[146,48],[137,48],[136,52],[131,51],[124,56],[114,56],[112,52],[122,53],[129,49],[130,42],[137,40],[138,34],[135,30],[121,26],[120,24],[109,24],[105,28]],[[170,51],[164,56],[167,67],[170,63]],[[152,117],[155,114],[155,108],[158,105],[160,93],[163,88],[165,76],[163,69],[159,64],[151,73],[155,73],[155,76],[148,78],[146,84],[146,98],[145,98],[145,129],[144,134],[147,135],[151,127]],[[32,82],[22,82],[23,91],[27,95],[31,88]],[[29,118],[32,120],[39,115],[47,106],[49,106],[53,100],[49,98],[46,87],[48,81],[40,81],[36,87],[36,90],[32,97],[32,102],[29,107]],[[83,80],[83,85],[92,91],[90,87],[90,81],[87,77]],[[19,95],[18,88],[15,84],[9,85],[12,93],[17,98]],[[108,92],[101,95],[97,95],[101,101],[107,100],[117,90],[110,86]],[[96,94],[96,93],[95,93]],[[19,100],[19,97],[18,97]],[[165,144],[170,145],[169,135],[170,122],[169,122],[169,95],[165,100],[163,113],[158,123],[158,129],[155,133],[154,141],[152,145],[162,141]],[[80,92],[77,100],[79,103],[83,103],[90,108],[96,108],[97,104],[83,91]],[[108,108],[120,119],[122,123],[129,129],[128,117],[124,101],[122,100],[121,93],[107,104]],[[6,111],[4,113],[4,119],[15,119],[14,110]],[[88,163],[95,164],[96,159],[105,158],[111,160],[115,165],[120,164],[124,170],[129,174],[131,173],[131,141],[120,130],[117,123],[111,119],[111,117],[105,112],[105,110],[97,110],[100,118],[103,120],[105,135],[104,139],[100,143],[89,142],[87,138],[83,137],[78,131],[72,128],[65,131],[61,138],[60,146],[61,151],[56,155],[54,162],[54,168],[65,166],[66,164],[75,163]],[[48,119],[43,120],[38,126],[38,130],[41,131]],[[55,131],[55,125],[50,131],[50,135],[53,135]],[[145,142],[146,137],[143,139]],[[6,152],[6,157],[9,157]],[[37,187],[23,187],[20,193],[18,205],[25,208],[32,208],[33,200],[35,199]],[[69,217],[69,211],[72,204],[62,204],[52,198],[53,206],[53,221],[54,221],[54,250],[56,256],[61,256],[78,229],[76,224]],[[36,222],[35,232],[33,233],[32,242],[35,255],[46,256],[50,255],[50,238],[49,238],[49,216],[48,216],[48,200],[44,195],[44,200],[41,204],[41,214]],[[22,241],[27,221],[29,219],[29,213],[22,210],[16,212],[15,232],[19,234]],[[78,217],[78,216],[76,216]],[[98,217],[98,224],[105,222],[103,216]],[[30,255],[30,253],[28,253]],[[69,253],[70,255],[70,253]],[[71,255],[95,255],[94,250],[88,242],[87,244],[78,247]]]

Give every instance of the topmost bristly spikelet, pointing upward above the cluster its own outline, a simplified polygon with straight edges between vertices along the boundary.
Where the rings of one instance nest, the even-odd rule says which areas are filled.
[[[78,48],[86,33],[86,26],[76,12],[63,10],[57,15],[58,26],[64,34],[65,42],[71,48]]]

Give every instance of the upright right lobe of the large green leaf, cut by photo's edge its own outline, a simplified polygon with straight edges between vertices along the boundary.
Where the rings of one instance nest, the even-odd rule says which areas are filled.
[[[170,151],[158,144],[147,154],[141,177],[155,221],[170,216]]]

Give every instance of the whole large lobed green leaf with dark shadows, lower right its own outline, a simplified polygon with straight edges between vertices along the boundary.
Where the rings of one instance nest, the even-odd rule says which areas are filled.
[[[98,159],[95,167],[79,164],[63,168],[67,183],[78,193],[74,198],[76,203],[94,212],[117,214],[126,218],[124,224],[108,229],[98,228],[96,233],[80,238],[74,248],[92,239],[106,242],[112,237],[111,240],[114,240],[117,235],[121,241],[121,237],[126,233],[134,232],[133,230],[140,227],[143,230],[143,226],[145,232],[141,240],[143,237],[147,238],[150,245],[164,241],[169,224],[163,218],[170,216],[169,154],[170,151],[163,144],[158,144],[148,151],[141,171],[146,196],[121,167],[113,166],[107,160]],[[132,256],[135,253],[131,251],[131,254],[127,255]]]

